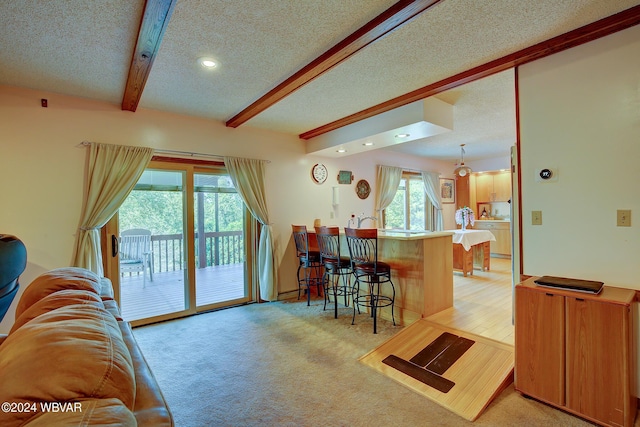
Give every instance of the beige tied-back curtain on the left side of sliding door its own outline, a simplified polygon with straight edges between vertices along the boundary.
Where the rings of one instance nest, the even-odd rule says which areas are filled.
[[[153,156],[153,149],[92,142],[73,264],[102,276],[100,228],[120,208]]]

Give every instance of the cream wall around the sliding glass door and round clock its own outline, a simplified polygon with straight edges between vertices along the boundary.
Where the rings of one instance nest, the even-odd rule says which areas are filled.
[[[40,107],[41,98],[48,98],[48,108]],[[344,226],[352,212],[373,214],[377,164],[452,171],[448,162],[376,151],[344,159],[308,156],[296,136],[246,126],[232,129],[213,120],[153,110],[131,113],[117,105],[0,86],[0,233],[18,236],[27,247],[22,289],[44,271],[71,262],[86,159],[86,149],[76,146],[85,140],[269,160],[267,202],[280,293],[296,289],[291,224],[311,226],[320,218],[324,224]],[[323,185],[310,178],[311,166],[319,162],[329,170]],[[367,179],[372,195],[363,201],[355,194],[355,182],[341,185],[340,205],[331,218],[331,187],[337,185],[333,183],[341,169],[353,171],[356,181]],[[453,211],[446,214],[453,218]],[[13,310],[0,332],[12,322]]]

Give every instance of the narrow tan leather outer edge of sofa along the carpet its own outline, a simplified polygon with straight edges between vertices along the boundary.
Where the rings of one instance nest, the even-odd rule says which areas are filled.
[[[136,397],[133,413],[138,426],[164,427],[173,426],[173,416],[162,395],[160,386],[144,359],[138,343],[133,336],[131,326],[127,322],[118,322],[124,342],[129,348],[136,378]]]

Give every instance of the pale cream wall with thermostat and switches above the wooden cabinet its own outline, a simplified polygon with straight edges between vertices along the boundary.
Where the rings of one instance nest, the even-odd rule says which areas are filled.
[[[524,273],[640,289],[640,26],[522,66],[519,79]],[[536,181],[544,167],[557,181]],[[617,209],[633,211],[631,227],[616,226]]]

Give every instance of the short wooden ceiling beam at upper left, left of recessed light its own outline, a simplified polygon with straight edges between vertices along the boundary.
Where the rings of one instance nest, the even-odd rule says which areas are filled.
[[[136,111],[147,84],[151,66],[160,49],[169,19],[178,0],[147,0],[142,13],[138,40],[129,67],[122,109]]]

